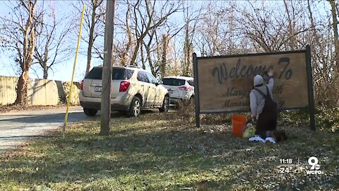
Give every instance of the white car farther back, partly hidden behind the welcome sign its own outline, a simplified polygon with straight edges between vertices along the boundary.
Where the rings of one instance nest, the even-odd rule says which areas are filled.
[[[194,78],[186,76],[167,76],[162,79],[162,86],[167,88],[171,103],[180,100],[194,103]]]

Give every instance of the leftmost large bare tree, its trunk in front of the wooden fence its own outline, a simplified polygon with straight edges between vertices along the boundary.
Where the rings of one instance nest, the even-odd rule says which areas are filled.
[[[16,51],[15,62],[20,65],[21,74],[16,88],[17,98],[15,104],[26,105],[28,103],[29,70],[33,64],[36,26],[42,10],[37,6],[37,0],[15,1],[8,6],[11,10],[10,18],[1,17],[4,38],[4,47]]]

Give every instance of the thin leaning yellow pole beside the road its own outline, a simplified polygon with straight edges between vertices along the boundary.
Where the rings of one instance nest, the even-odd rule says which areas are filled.
[[[79,35],[78,35],[78,45],[76,46],[76,58],[74,59],[74,64],[73,64],[71,87],[69,88],[69,100],[68,100],[67,108],[66,108],[64,127],[62,128],[62,132],[63,132],[62,137],[65,137],[65,129],[66,129],[66,125],[67,125],[67,118],[69,117],[69,103],[71,103],[71,98],[72,98],[74,71],[76,71],[76,59],[78,58],[78,50],[79,50],[80,39],[81,39],[81,29],[83,28],[83,13],[85,13],[85,5],[83,5],[83,12],[81,13],[80,30],[79,30]]]

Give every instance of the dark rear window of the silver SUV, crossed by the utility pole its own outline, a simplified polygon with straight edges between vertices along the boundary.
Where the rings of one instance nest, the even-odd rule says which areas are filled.
[[[113,80],[124,80],[131,79],[133,75],[133,70],[131,69],[112,69],[112,79]],[[100,79],[102,78],[102,68],[95,67],[93,68],[86,76],[85,79]]]

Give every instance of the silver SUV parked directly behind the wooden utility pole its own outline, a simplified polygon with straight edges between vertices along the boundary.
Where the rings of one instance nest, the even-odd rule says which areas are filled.
[[[94,67],[81,81],[80,104],[85,115],[94,116],[101,109],[102,66]],[[150,72],[136,66],[112,69],[111,110],[126,111],[131,116],[141,110],[159,108],[167,112],[169,93]]]

